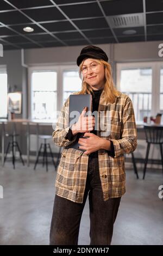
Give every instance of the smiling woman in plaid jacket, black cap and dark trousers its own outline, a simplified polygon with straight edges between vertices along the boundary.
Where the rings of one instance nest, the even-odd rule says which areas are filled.
[[[68,97],[53,132],[54,143],[64,149],[55,183],[50,244],[78,244],[80,220],[89,194],[90,245],[110,245],[125,193],[124,154],[137,146],[134,110],[130,98],[114,87],[111,66],[101,48],[84,47],[77,65],[83,83],[81,92],[74,94],[92,94],[92,112],[98,111],[98,121],[105,124],[105,129],[95,129],[97,120],[85,117],[86,108],[77,123],[68,126]],[[101,113],[105,115],[101,117]],[[66,149],[78,132],[86,136],[79,139],[79,148],[84,152]]]

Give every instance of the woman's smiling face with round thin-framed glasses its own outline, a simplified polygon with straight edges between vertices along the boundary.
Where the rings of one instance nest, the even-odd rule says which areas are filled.
[[[96,59],[86,59],[82,65],[82,74],[84,81],[89,84],[93,90],[104,87],[105,70],[104,66],[97,63]]]

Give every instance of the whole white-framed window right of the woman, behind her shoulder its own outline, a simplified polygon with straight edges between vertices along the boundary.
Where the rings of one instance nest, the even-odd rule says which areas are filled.
[[[132,100],[137,123],[145,116],[155,116],[161,108],[163,113],[163,72],[160,89],[159,71],[157,62],[117,64],[117,89]]]

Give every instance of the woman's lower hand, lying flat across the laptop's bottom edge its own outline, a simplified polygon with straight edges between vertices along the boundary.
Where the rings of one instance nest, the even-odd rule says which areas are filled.
[[[79,139],[79,146],[80,149],[85,149],[86,151],[83,154],[90,154],[95,152],[99,149],[106,149],[110,150],[110,141],[106,139],[102,139],[95,135],[94,133],[86,132],[84,137],[89,138],[80,138]]]

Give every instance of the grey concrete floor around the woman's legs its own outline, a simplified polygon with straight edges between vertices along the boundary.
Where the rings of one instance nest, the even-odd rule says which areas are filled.
[[[139,170],[140,178],[142,171]],[[0,167],[0,245],[48,245],[56,172],[37,165],[11,162]],[[122,197],[112,245],[163,245],[163,201],[158,187],[160,169],[147,170],[146,180],[136,180],[127,170],[127,192]],[[79,245],[89,245],[89,206],[86,202],[80,225]]]

